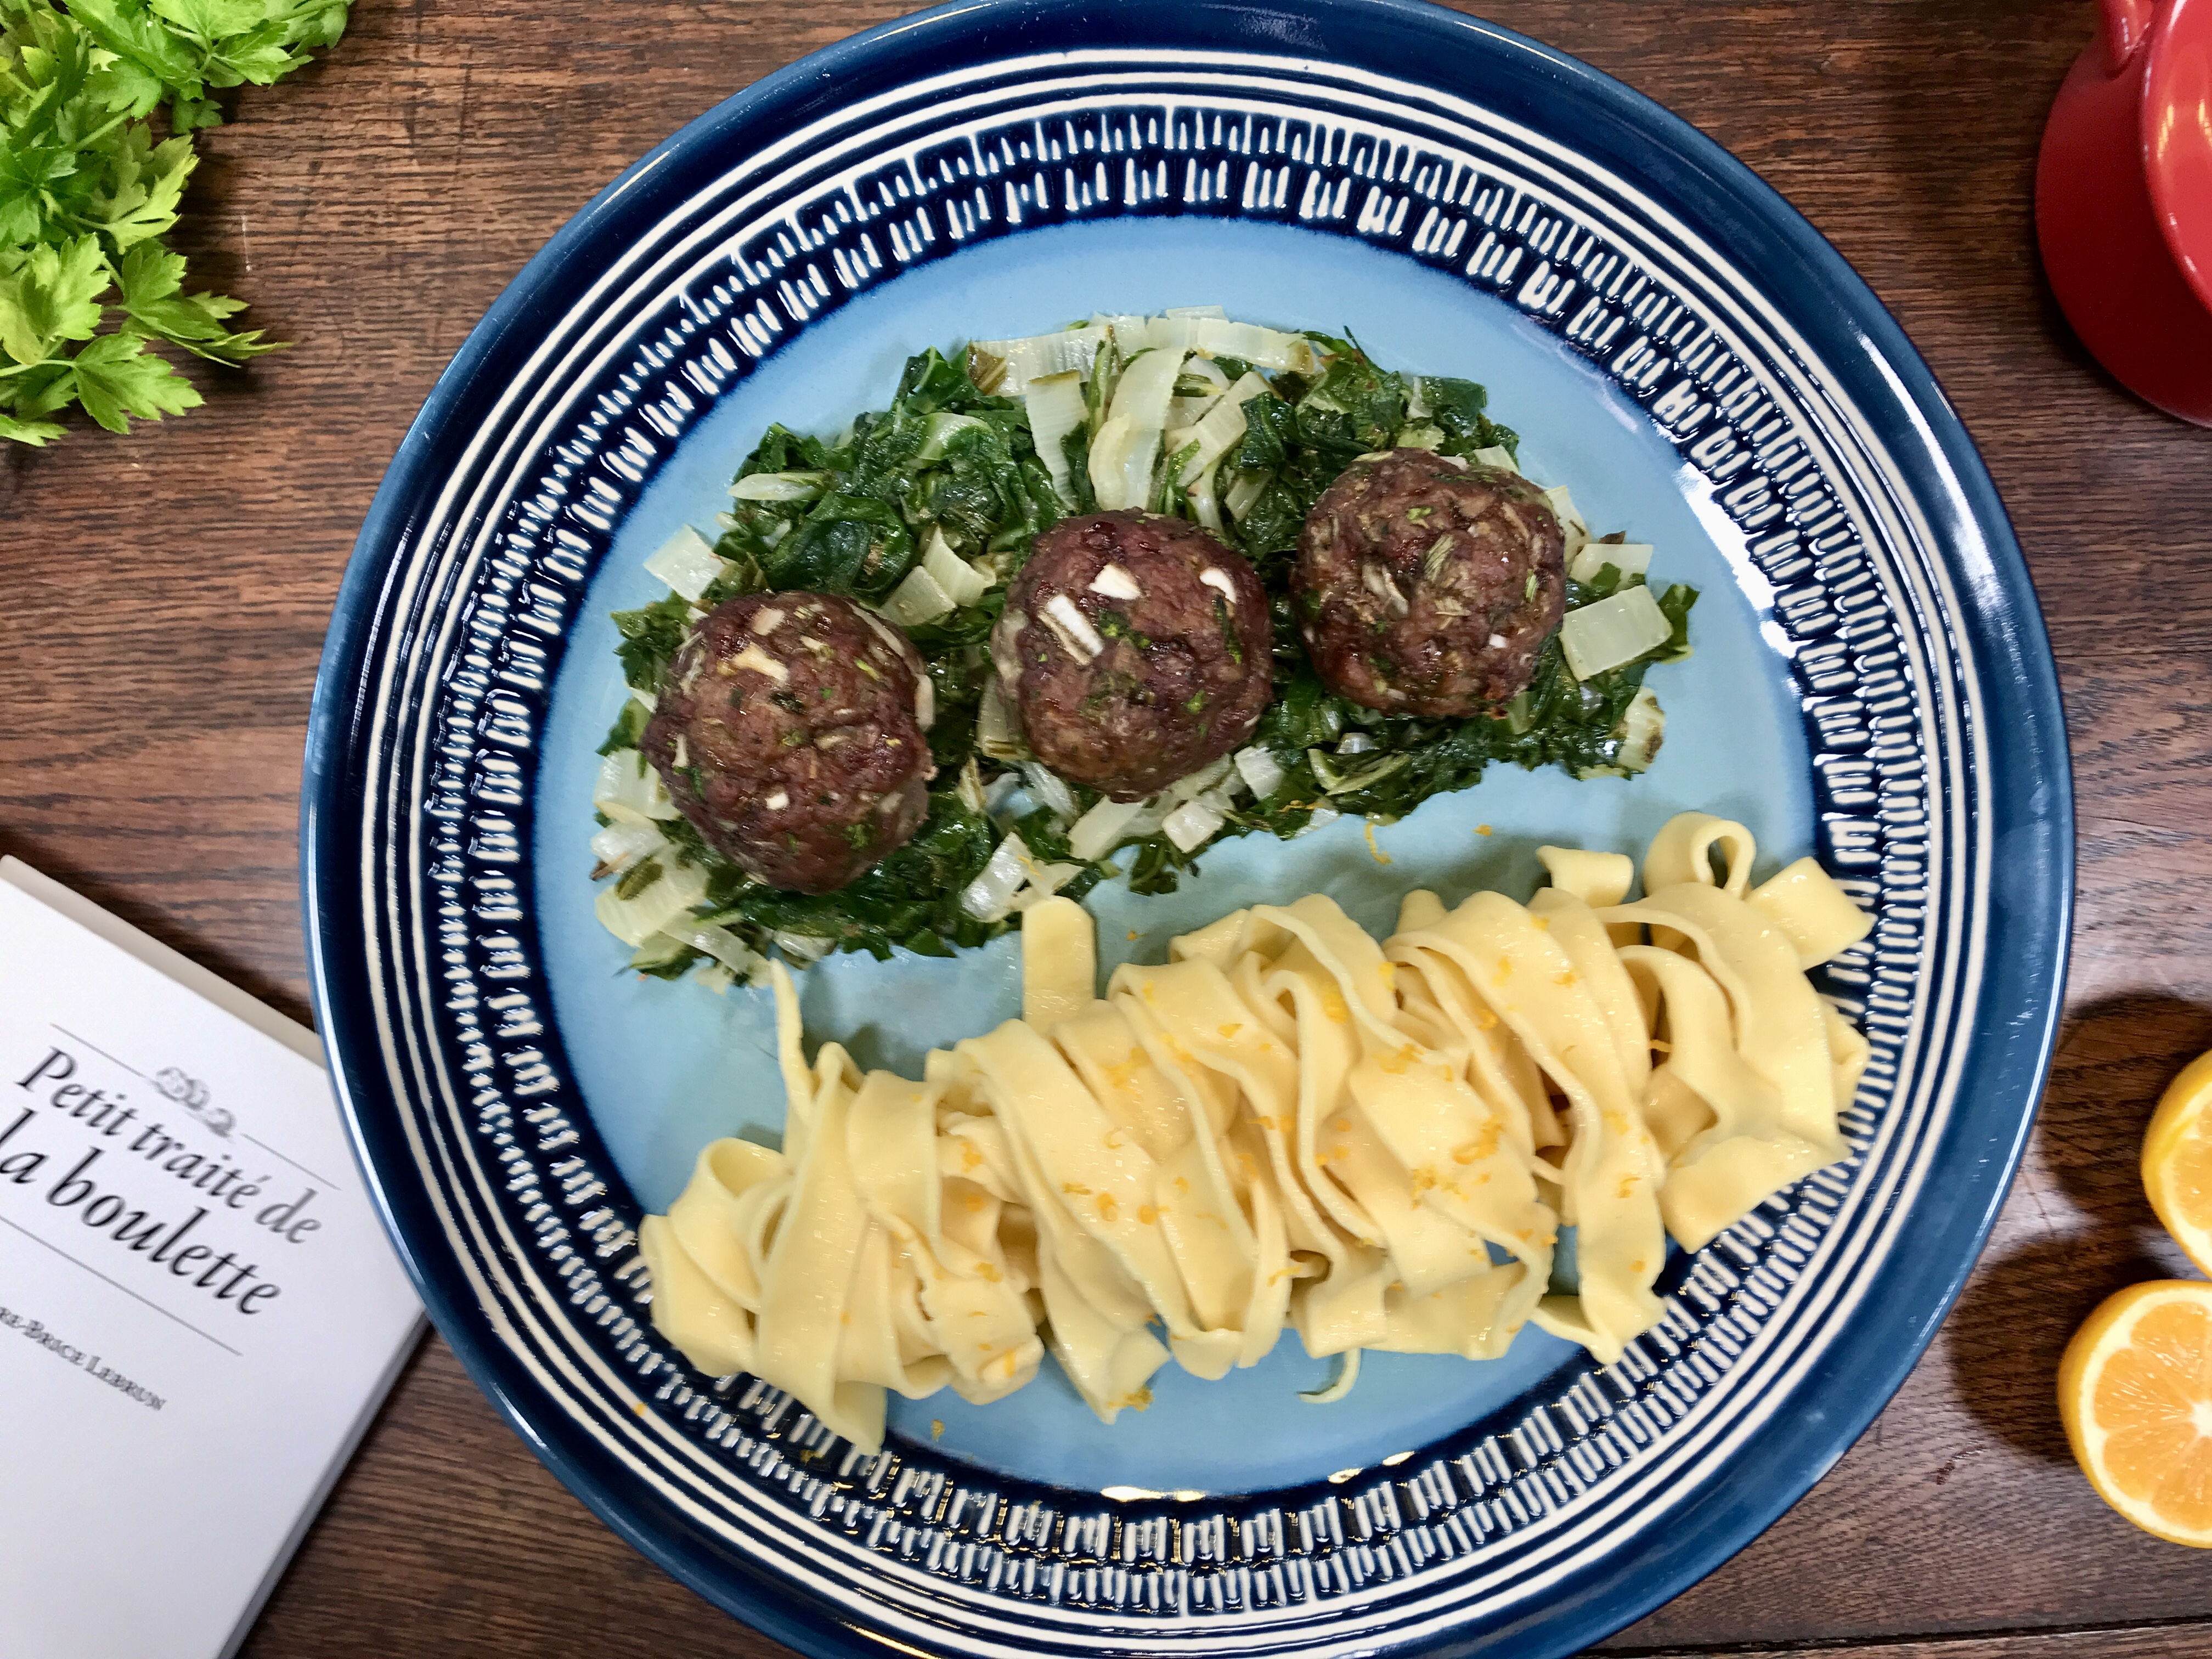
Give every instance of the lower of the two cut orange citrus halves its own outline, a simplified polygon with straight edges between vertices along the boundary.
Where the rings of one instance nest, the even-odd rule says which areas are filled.
[[[2212,1548],[2212,1285],[2154,1279],[2108,1296],[2059,1360],[2059,1418],[2104,1502]]]

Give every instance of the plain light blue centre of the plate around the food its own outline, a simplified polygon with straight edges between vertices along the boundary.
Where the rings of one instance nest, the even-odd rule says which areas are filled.
[[[1557,336],[1506,301],[1402,254],[1283,226],[1223,219],[1117,219],[989,241],[907,272],[830,316],[739,380],[681,440],[622,524],[568,639],[538,776],[538,918],[568,1062],[624,1179],[648,1210],[684,1188],[699,1148],[783,1121],[765,991],[714,995],[692,982],[624,973],[628,949],[593,916],[591,785],[626,690],[608,613],[666,593],[641,568],[681,524],[710,540],[730,476],[763,427],[830,436],[883,407],[900,365],[927,345],[1037,334],[1093,312],[1225,305],[1279,327],[1349,327],[1387,367],[1482,380],[1491,414],[1522,434],[1522,467],[1568,484],[1597,533],[1657,549],[1652,582],[1703,591],[1697,657],[1657,668],[1666,745],[1635,781],[1577,783],[1562,772],[1493,768],[1455,796],[1376,830],[1343,821],[1296,843],[1248,836],[1206,854],[1203,874],[1164,898],[1119,883],[1088,900],[1102,967],[1159,962],[1166,942],[1252,902],[1310,891],[1383,933],[1398,898],[1447,900],[1478,887],[1526,896],[1544,843],[1641,854],[1672,814],[1697,807],[1759,836],[1761,874],[1812,849],[1812,761],[1776,655],[1770,588],[1710,484]],[[1387,863],[1385,863],[1387,858]],[[805,975],[807,1040],[845,1042],[865,1066],[920,1075],[920,1055],[1020,1013],[1020,938],[953,960],[841,956]],[[1102,1491],[1259,1491],[1383,1462],[1502,1409],[1579,1349],[1528,1329],[1513,1352],[1473,1365],[1367,1356],[1349,1400],[1312,1407],[1334,1363],[1296,1336],[1250,1371],[1201,1383],[1166,1367],[1148,1411],[1097,1422],[1046,1363],[1022,1394],[971,1407],[951,1391],[891,1402],[891,1429],[1026,1480]]]

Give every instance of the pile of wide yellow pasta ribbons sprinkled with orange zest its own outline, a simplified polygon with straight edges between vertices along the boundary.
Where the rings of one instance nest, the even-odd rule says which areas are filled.
[[[1599,1360],[1699,1250],[1845,1157],[1867,1042],[1805,971],[1871,920],[1812,858],[1686,812],[1637,865],[1544,847],[1526,905],[1413,891],[1376,942],[1332,900],[1259,905],[1097,991],[1091,918],[1029,911],[1022,1018],[922,1079],[801,1046],[774,969],[783,1150],[719,1139],[646,1217],[653,1323],[858,1447],[891,1391],[989,1402],[1051,1349],[1106,1422],[1166,1363],[1256,1365],[1285,1329],[1498,1358],[1526,1325]],[[1573,1230],[1573,1290],[1553,1290]]]

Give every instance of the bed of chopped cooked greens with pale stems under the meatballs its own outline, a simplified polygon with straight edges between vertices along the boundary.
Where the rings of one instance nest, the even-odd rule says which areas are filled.
[[[1168,349],[1175,363],[1146,363]],[[1157,425],[1133,429],[1128,411],[1146,398]],[[611,759],[593,847],[599,874],[617,876],[602,889],[602,920],[637,947],[633,967],[664,978],[706,958],[710,973],[752,973],[770,949],[796,962],[830,951],[887,958],[894,947],[945,956],[1018,925],[1033,898],[1082,896],[1115,874],[1139,894],[1172,891],[1217,836],[1294,836],[1343,814],[1389,823],[1475,783],[1493,761],[1584,779],[1641,772],[1663,723],[1646,670],[1690,655],[1697,593],[1686,586],[1655,591],[1661,619],[1637,644],[1668,630],[1661,644],[1577,679],[1553,637],[1528,688],[1495,714],[1383,714],[1329,692],[1307,664],[1290,566],[1314,502],[1378,449],[1515,467],[1515,434],[1484,409],[1473,380],[1385,369],[1349,336],[1170,312],[953,356],[922,352],[891,405],[858,416],[834,442],[770,427],[737,471],[712,557],[692,540],[710,573],[615,615],[637,697],[599,750]],[[1055,453],[1040,451],[1040,431]],[[1566,491],[1548,493],[1568,533],[1568,611],[1644,584],[1650,549],[1593,540]],[[1206,524],[1252,560],[1274,604],[1274,701],[1252,743],[1139,805],[1040,768],[989,664],[1006,580],[1037,533],[1097,507]],[[1608,546],[1621,549],[1619,562]],[[648,564],[684,588],[670,573],[701,564],[664,564],[670,557],[675,544]],[[690,622],[761,588],[876,606],[914,639],[936,690],[929,821],[834,894],[790,894],[745,876],[655,794],[637,757],[646,710]],[[1635,604],[1650,617],[1644,599]],[[646,865],[670,865],[692,885],[639,878],[644,887],[624,891]]]

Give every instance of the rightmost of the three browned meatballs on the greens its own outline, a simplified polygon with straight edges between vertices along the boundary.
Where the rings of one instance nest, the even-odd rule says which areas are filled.
[[[1429,449],[1356,460],[1314,502],[1292,573],[1314,670],[1391,714],[1495,710],[1566,611],[1544,491]]]

